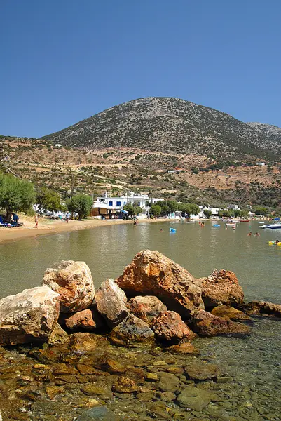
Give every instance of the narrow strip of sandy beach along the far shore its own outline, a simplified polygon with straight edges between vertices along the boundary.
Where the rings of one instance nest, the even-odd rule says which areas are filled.
[[[139,222],[163,222],[169,219],[159,218],[156,220],[139,220]],[[34,219],[20,215],[22,227],[0,228],[0,245],[11,241],[18,241],[47,234],[60,234],[60,232],[78,231],[80,229],[90,229],[95,227],[105,227],[108,225],[132,224],[132,220],[71,220],[69,224],[64,220],[39,219],[39,227],[34,227]]]

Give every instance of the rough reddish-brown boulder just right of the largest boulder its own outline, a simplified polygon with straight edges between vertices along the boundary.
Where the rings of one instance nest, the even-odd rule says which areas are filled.
[[[207,309],[224,304],[237,307],[244,301],[244,293],[234,272],[214,269],[207,278],[201,278],[202,298]]]

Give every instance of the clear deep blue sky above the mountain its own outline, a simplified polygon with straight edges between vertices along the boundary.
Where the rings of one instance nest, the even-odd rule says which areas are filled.
[[[0,133],[182,98],[281,127],[281,0],[0,0]]]

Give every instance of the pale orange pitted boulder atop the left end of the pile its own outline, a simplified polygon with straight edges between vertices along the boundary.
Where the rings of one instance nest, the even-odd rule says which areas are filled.
[[[92,305],[95,286],[92,274],[85,262],[62,260],[57,269],[47,269],[43,285],[60,294],[60,311],[75,313]]]

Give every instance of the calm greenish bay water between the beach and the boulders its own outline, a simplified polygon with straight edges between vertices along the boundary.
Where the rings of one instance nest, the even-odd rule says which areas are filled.
[[[170,226],[177,232],[170,233]],[[247,236],[249,230],[261,236]],[[40,285],[46,267],[60,260],[87,262],[99,286],[107,277],[119,276],[139,250],[149,248],[195,276],[214,268],[233,270],[247,299],[281,302],[281,248],[268,246],[275,236],[257,222],[240,223],[235,231],[223,222],[212,227],[207,221],[203,228],[197,222],[140,222],[13,241],[0,246],[0,295]]]

